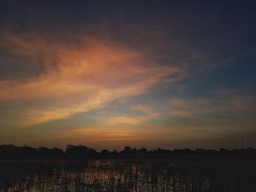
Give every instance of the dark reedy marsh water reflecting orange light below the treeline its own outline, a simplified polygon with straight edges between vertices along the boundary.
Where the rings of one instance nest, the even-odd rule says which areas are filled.
[[[255,191],[241,161],[5,161],[0,191]]]

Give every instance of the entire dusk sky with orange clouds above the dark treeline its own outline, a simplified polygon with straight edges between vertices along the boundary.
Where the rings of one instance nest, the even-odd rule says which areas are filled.
[[[0,144],[256,147],[254,1],[0,2]]]

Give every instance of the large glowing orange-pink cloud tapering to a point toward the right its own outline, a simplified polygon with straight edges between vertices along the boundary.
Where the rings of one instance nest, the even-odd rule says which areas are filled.
[[[24,126],[67,118],[146,93],[163,77],[180,72],[108,40],[82,38],[78,46],[72,46],[33,35],[6,37],[13,54],[42,58],[45,72],[23,81],[1,81],[0,101],[53,101],[26,107],[20,114]]]

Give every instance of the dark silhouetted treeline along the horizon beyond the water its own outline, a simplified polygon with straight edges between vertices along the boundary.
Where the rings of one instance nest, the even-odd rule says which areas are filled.
[[[197,148],[195,150],[175,149],[165,150],[158,148],[157,150],[147,150],[146,148],[132,148],[124,147],[123,150],[118,152],[117,150],[109,151],[102,150],[97,151],[86,145],[67,145],[65,150],[59,148],[47,148],[47,147],[29,147],[24,145],[18,147],[15,145],[0,145],[0,158],[12,159],[12,158],[38,158],[38,159],[80,159],[80,158],[180,158],[180,157],[198,157],[198,156],[233,156],[233,155],[255,155],[256,150],[252,147],[246,149],[233,149],[227,150],[219,148],[219,150],[206,150],[203,148]]]

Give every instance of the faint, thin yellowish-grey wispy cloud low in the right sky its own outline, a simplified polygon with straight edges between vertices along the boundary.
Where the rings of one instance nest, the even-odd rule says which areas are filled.
[[[108,123],[124,123],[142,126],[148,121],[157,120],[162,122],[173,122],[176,120],[200,120],[204,124],[204,128],[210,127],[207,123],[203,123],[205,118],[216,123],[222,120],[232,118],[241,119],[243,115],[249,118],[249,114],[255,114],[255,97],[254,96],[222,96],[222,99],[206,98],[206,97],[172,97],[171,99],[157,101],[154,104],[132,105],[129,111],[121,115],[112,117],[102,117]],[[247,113],[246,113],[247,112]],[[169,123],[171,124],[171,123]],[[177,125],[176,125],[177,126]],[[187,125],[188,127],[191,125]],[[209,128],[209,130],[212,128]]]

